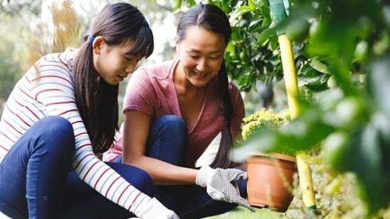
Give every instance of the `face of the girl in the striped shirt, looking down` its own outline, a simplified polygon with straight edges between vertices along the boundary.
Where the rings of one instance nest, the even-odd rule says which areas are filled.
[[[141,57],[128,54],[132,46],[132,43],[109,46],[104,42],[104,38],[95,38],[94,67],[108,84],[119,84],[128,74],[134,72]]]

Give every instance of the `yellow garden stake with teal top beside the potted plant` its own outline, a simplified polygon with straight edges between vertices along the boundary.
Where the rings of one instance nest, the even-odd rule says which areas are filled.
[[[269,0],[269,6],[271,7],[275,23],[283,21],[286,17],[283,0]],[[296,118],[296,116],[299,115],[299,104],[297,100],[298,82],[296,79],[294,53],[292,50],[291,40],[289,40],[285,33],[278,33],[278,42],[282,58],[289,111],[291,113],[291,118]],[[299,184],[301,185],[303,203],[309,212],[308,218],[315,218],[317,213],[316,198],[314,197],[311,169],[307,162],[307,155],[305,152],[297,153],[296,164],[298,167]]]

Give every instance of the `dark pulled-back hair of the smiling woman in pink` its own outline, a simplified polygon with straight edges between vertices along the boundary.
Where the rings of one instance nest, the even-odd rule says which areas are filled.
[[[199,26],[206,30],[218,33],[225,39],[225,46],[228,45],[232,30],[225,12],[212,4],[198,4],[189,11],[186,11],[179,21],[177,27],[177,40],[182,42],[186,36],[186,30],[191,26]],[[230,99],[228,88],[228,73],[226,72],[225,60],[221,64],[218,72],[218,94],[219,103],[225,118],[223,128],[221,130],[222,137],[219,145],[219,150],[211,167],[229,167],[230,160],[229,152],[233,147],[232,135],[230,133],[230,120],[233,115],[233,105]]]

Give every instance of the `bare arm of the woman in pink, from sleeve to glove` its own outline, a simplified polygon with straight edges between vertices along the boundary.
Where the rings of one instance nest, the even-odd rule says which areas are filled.
[[[145,170],[160,185],[195,184],[197,169],[178,167],[145,156],[151,116],[140,111],[125,112],[123,126],[123,163]]]

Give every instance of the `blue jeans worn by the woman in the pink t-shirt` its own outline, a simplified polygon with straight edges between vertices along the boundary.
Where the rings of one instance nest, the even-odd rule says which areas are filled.
[[[183,167],[187,142],[188,131],[182,118],[173,115],[162,116],[150,130],[147,155]],[[121,156],[116,162],[120,161]],[[236,182],[240,196],[246,198],[247,181]],[[196,185],[155,186],[155,197],[184,219],[206,218],[228,212],[238,206],[235,203],[215,201],[208,196],[205,188]]]

